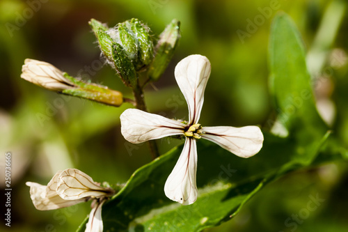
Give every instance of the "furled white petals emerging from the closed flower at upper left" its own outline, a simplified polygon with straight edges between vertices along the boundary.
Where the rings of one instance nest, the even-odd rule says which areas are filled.
[[[52,91],[63,91],[75,87],[74,83],[64,77],[63,72],[54,65],[33,59],[25,59],[21,77]]]

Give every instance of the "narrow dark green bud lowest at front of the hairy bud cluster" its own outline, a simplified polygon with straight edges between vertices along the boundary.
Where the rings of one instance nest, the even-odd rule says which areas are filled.
[[[127,52],[118,43],[113,43],[112,46],[113,63],[120,75],[123,83],[129,87],[135,87],[137,82],[136,71],[134,65],[127,57]]]

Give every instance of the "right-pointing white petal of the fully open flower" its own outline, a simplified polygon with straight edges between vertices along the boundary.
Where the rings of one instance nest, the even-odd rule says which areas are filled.
[[[202,138],[213,141],[240,157],[251,157],[262,148],[263,134],[257,126],[203,127]]]

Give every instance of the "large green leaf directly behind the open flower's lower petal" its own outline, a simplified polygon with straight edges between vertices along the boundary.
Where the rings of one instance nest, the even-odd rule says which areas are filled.
[[[317,146],[323,143],[324,139],[317,141]],[[265,184],[299,168],[281,168],[296,150],[289,139],[269,133],[264,133],[260,153],[248,159],[200,139],[198,199],[192,205],[181,206],[164,195],[164,183],[181,150],[182,146],[173,148],[138,169],[127,185],[105,203],[104,231],[201,231],[231,219]],[[84,231],[84,226],[78,231]]]

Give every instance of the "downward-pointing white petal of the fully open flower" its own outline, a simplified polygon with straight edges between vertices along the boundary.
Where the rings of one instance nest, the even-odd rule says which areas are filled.
[[[187,138],[171,175],[164,185],[164,193],[173,200],[189,205],[197,199],[196,186],[197,148],[196,140]]]

